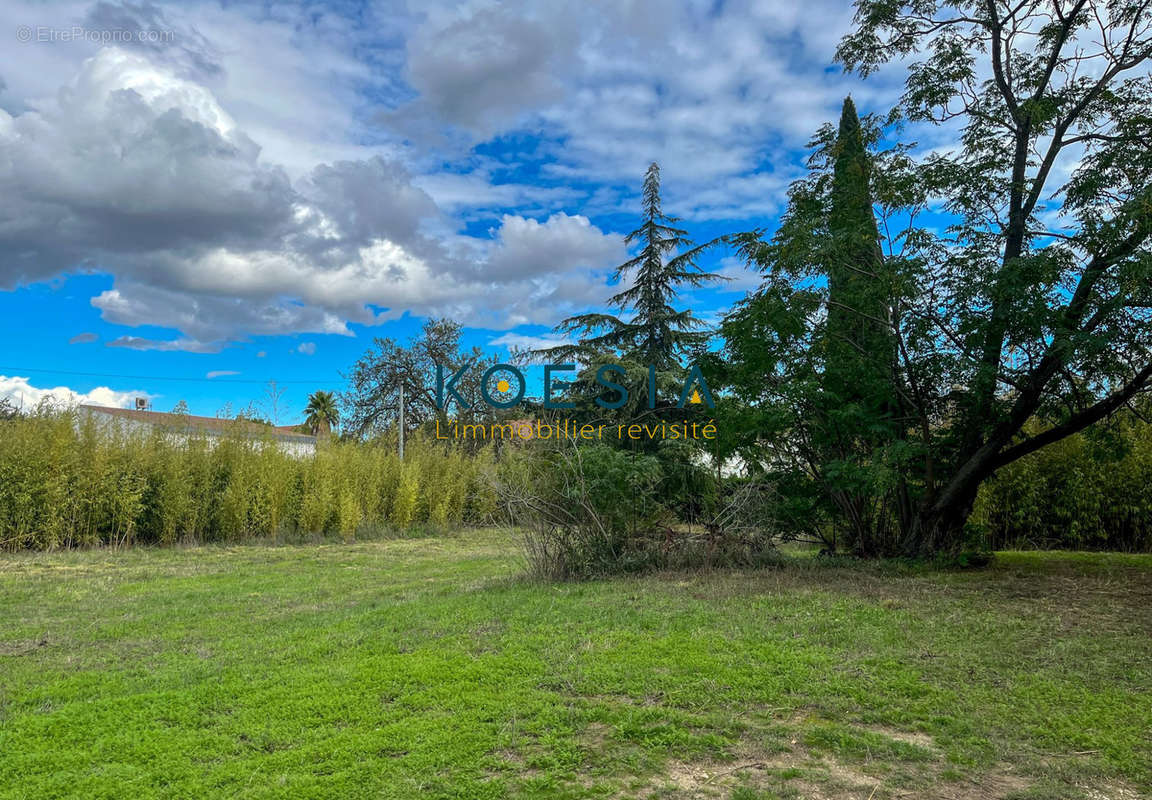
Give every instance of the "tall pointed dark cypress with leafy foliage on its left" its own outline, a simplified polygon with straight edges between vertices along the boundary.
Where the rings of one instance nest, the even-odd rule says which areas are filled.
[[[881,212],[895,202],[907,165],[899,145],[869,152],[880,137],[880,121],[861,121],[846,100],[776,235],[737,237],[765,280],[727,315],[725,352],[706,360],[730,398],[717,409],[725,454],[782,490],[781,522],[861,556],[899,552],[922,488],[904,477],[916,450],[896,380],[903,265],[880,251],[873,214],[873,202]]]

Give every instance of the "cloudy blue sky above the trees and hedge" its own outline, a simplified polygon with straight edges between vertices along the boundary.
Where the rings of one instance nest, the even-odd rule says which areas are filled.
[[[310,392],[429,317],[494,353],[604,307],[639,186],[772,231],[846,95],[843,0],[0,0],[0,398]],[[683,304],[715,320],[756,284]]]

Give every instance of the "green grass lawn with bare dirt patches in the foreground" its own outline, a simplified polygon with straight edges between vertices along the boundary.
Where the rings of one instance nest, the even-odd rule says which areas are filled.
[[[1152,797],[1150,557],[520,573],[497,531],[0,556],[0,797]]]

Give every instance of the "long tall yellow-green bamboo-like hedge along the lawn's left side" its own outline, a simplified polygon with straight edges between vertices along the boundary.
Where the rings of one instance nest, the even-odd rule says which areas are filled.
[[[238,430],[142,431],[40,409],[0,421],[0,549],[234,542],[483,522],[491,453],[419,438],[294,458]]]

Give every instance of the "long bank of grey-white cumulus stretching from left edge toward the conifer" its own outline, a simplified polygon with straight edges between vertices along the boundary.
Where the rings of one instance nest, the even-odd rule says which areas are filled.
[[[104,319],[182,335],[113,347],[214,353],[282,333],[350,334],[415,314],[509,326],[600,297],[619,236],[585,217],[506,214],[488,237],[441,234],[431,196],[384,158],[298,181],[266,163],[205,86],[113,47],[43,107],[0,111],[0,285],[112,272]]]

